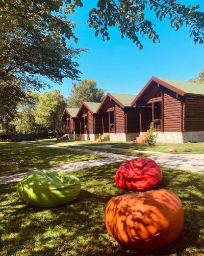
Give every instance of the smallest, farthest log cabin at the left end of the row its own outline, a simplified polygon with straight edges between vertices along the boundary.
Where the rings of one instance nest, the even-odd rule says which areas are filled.
[[[75,118],[79,108],[65,108],[60,121],[62,122],[64,136],[73,139],[73,132],[79,131],[79,121]]]

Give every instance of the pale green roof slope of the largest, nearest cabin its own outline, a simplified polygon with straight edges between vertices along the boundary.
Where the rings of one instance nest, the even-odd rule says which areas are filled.
[[[186,94],[204,95],[204,84],[202,83],[185,82],[185,81],[172,80],[172,79],[160,78],[160,77],[157,77],[157,78],[166,83],[169,83],[171,86],[174,86],[179,90],[184,91]]]

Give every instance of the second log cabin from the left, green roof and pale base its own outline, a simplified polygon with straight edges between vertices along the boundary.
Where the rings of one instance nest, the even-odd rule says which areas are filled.
[[[76,118],[79,121],[79,131],[82,140],[96,140],[103,132],[101,115],[96,114],[99,102],[82,102]]]

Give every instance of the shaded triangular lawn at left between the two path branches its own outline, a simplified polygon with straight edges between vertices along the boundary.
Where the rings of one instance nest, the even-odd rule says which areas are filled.
[[[103,156],[96,154],[16,142],[1,142],[0,148],[2,148],[0,151],[0,175],[23,173],[35,169],[103,158]]]

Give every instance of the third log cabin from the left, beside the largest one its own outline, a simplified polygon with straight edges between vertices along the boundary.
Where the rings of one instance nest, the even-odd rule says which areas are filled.
[[[136,95],[108,93],[96,110],[102,117],[104,139],[130,141],[140,133],[139,108],[131,102]]]

